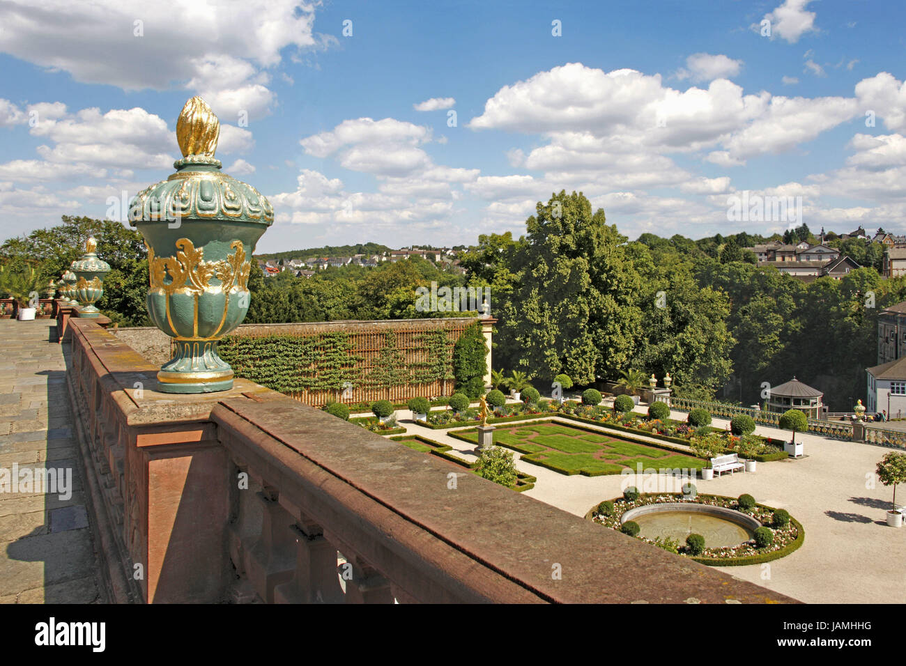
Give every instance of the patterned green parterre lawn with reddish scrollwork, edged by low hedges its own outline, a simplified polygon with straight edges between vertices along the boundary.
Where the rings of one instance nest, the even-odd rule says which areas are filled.
[[[471,442],[478,440],[476,430],[450,434]],[[498,427],[494,443],[515,449],[525,454],[523,460],[561,474],[619,474],[625,468],[634,471],[640,464],[643,469],[700,469],[705,464],[693,456],[552,422]]]

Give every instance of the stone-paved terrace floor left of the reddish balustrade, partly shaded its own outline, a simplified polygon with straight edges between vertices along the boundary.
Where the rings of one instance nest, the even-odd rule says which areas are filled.
[[[55,340],[53,320],[0,319],[0,475],[14,464],[72,470],[65,500],[0,487],[0,603],[101,601],[66,363]]]

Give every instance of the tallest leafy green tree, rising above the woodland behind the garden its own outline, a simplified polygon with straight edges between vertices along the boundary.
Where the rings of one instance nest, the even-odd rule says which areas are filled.
[[[626,367],[641,329],[639,275],[616,227],[582,193],[538,202],[525,221],[510,270],[513,293],[500,308],[498,354],[505,365],[577,384]]]

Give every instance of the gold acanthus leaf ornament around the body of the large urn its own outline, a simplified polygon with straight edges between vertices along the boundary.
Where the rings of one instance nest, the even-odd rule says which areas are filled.
[[[160,289],[165,294],[204,294],[210,288],[211,277],[220,280],[220,291],[229,292],[234,286],[241,290],[248,288],[248,274],[252,268],[246,261],[246,248],[242,241],[230,243],[236,252],[219,261],[205,261],[204,250],[196,248],[188,238],[176,242],[176,256],[155,256],[148,247],[149,282],[151,289]],[[169,273],[170,282],[164,282]]]

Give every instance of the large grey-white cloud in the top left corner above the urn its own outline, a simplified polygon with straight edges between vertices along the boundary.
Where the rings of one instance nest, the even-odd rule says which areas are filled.
[[[216,111],[260,115],[273,103],[260,72],[279,64],[284,49],[322,48],[333,40],[313,33],[318,5],[10,0],[0,5],[0,52],[69,72],[77,82],[127,91],[186,88],[209,98]]]

